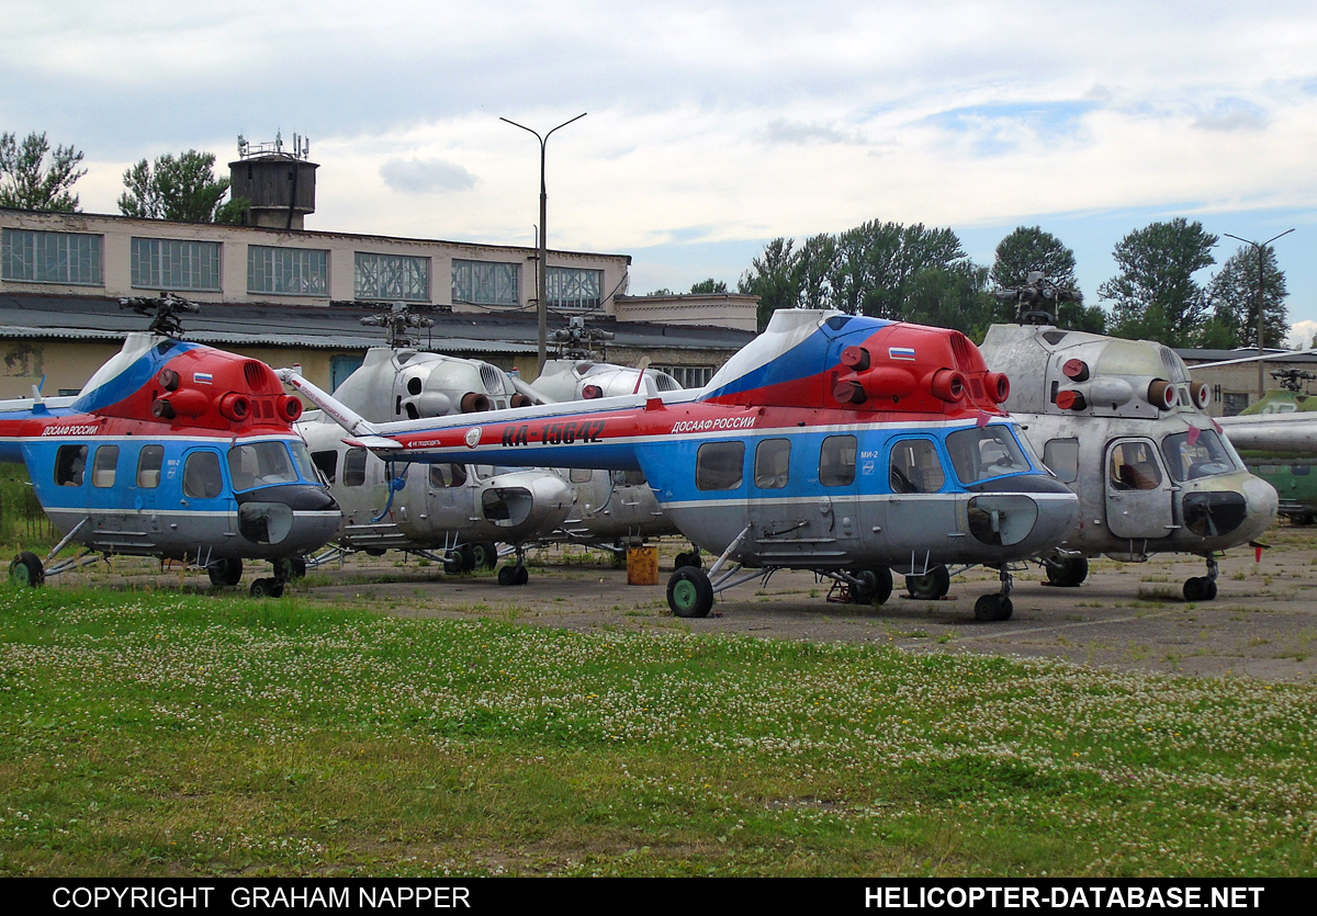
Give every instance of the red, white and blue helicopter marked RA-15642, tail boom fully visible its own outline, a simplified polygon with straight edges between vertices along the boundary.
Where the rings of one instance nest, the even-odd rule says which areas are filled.
[[[893,571],[986,563],[1001,590],[975,615],[1005,620],[1009,563],[1058,545],[1079,516],[998,407],[1009,391],[959,332],[784,309],[702,390],[378,425],[306,394],[350,444],[394,461],[643,471],[677,528],[718,555],[672,575],[678,616],[778,569],[882,603]]]

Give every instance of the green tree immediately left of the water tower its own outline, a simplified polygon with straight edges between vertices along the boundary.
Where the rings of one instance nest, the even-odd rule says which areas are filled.
[[[215,154],[166,153],[154,166],[142,159],[124,172],[119,212],[148,220],[241,222],[245,200],[224,201],[229,179],[215,176]]]

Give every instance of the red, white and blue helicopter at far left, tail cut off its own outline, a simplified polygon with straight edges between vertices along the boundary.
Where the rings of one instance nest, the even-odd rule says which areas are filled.
[[[63,533],[45,561],[20,553],[11,579],[112,554],[161,557],[237,584],[244,559],[274,562],[253,595],[278,596],[295,561],[338,528],[338,505],[291,422],[302,403],[257,359],[179,340],[183,299],[122,300],[155,313],[72,397],[0,401],[0,461],[24,462]],[[78,557],[46,567],[66,546]]]

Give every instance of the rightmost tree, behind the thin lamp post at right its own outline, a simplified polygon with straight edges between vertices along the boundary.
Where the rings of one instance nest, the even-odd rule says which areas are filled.
[[[1289,309],[1285,308],[1285,272],[1276,266],[1276,250],[1262,249],[1262,324],[1263,346],[1281,347],[1289,336]],[[1218,330],[1217,341],[1206,344],[1222,349],[1258,346],[1258,249],[1241,246],[1221,266],[1208,286],[1212,320]]]

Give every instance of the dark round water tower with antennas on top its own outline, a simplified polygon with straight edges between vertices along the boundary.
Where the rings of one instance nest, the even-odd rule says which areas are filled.
[[[238,134],[238,158],[229,163],[230,193],[250,203],[246,224],[267,229],[303,229],[316,212],[316,163],[311,141],[292,134],[292,147],[278,133],[273,143],[249,143]]]

